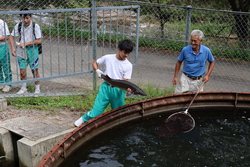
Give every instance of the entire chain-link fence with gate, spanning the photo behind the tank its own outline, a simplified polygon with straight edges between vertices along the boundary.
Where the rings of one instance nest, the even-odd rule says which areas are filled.
[[[20,7],[46,8],[32,11],[36,13],[33,20],[41,26],[44,37],[39,65],[41,95],[81,94],[95,87],[92,61],[104,54],[116,53],[117,42],[123,38],[131,38],[139,47],[129,57],[136,65],[131,82],[170,87],[177,56],[189,44],[193,29],[204,32],[203,44],[216,58],[205,90],[249,91],[249,12],[118,0],[29,2],[32,3],[6,2],[6,9],[13,11],[0,12],[0,16],[12,30],[19,22]],[[11,58],[11,61],[13,89],[2,96],[14,96],[24,82],[19,79],[16,60]],[[28,82],[33,81],[30,75]],[[100,82],[97,79],[97,83]]]

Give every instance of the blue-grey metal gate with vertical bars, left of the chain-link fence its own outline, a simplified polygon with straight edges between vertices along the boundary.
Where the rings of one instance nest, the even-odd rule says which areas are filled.
[[[20,15],[32,13],[32,21],[43,33],[40,78],[33,78],[28,67],[28,79],[21,80],[17,57],[11,57],[13,81],[0,86],[12,85],[12,90],[2,96],[33,96],[35,81],[41,81],[42,93],[38,96],[83,94],[85,90],[93,89],[96,75],[92,78],[91,64],[97,56],[116,52],[118,42],[124,38],[133,38],[138,46],[140,13],[139,6],[96,7],[95,11],[77,8],[1,12],[2,19],[13,31],[21,31],[13,28],[22,22]],[[23,33],[34,38],[33,33],[25,30]],[[17,37],[16,41],[19,40]],[[138,47],[131,55],[134,64],[138,61],[137,55]],[[29,93],[16,95],[24,82],[28,83]]]

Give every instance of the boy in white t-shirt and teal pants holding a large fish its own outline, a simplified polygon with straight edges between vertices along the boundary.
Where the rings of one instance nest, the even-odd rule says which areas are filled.
[[[99,65],[105,65],[105,75],[112,79],[128,80],[132,75],[132,64],[127,57],[133,51],[133,42],[130,40],[123,40],[118,45],[118,52],[116,54],[108,54],[102,56],[92,63],[93,69],[99,77],[104,74],[98,69]],[[99,88],[92,110],[88,111],[82,117],[75,121],[75,126],[80,126],[82,123],[100,115],[110,103],[111,108],[117,108],[124,105],[125,91],[111,87],[107,82],[103,82]]]

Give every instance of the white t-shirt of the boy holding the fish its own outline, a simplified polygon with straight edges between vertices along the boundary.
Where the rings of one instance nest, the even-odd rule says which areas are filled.
[[[112,79],[131,79],[132,64],[128,59],[123,61],[116,58],[116,54],[108,54],[97,59],[98,65],[106,65],[105,74]]]

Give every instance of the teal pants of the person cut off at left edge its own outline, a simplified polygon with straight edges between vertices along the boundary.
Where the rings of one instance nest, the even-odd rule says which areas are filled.
[[[0,45],[0,83],[12,82],[9,46]]]

